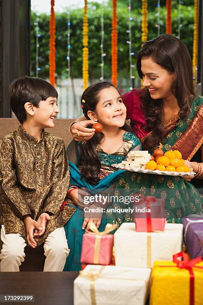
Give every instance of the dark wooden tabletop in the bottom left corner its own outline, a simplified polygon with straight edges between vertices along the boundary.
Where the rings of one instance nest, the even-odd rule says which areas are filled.
[[[73,305],[73,281],[77,276],[76,271],[1,272],[0,295],[34,295],[35,302],[30,305]]]

